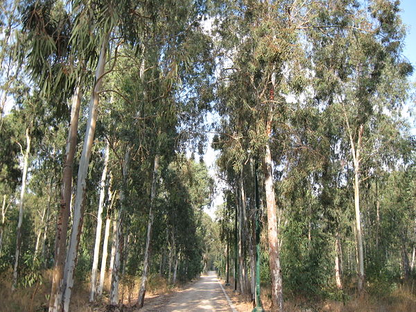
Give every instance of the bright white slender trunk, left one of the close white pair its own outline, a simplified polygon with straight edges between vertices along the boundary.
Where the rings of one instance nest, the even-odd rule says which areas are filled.
[[[96,239],[95,239],[95,245],[94,245],[94,257],[92,260],[91,290],[89,291],[89,302],[93,302],[95,300],[95,293],[96,293],[98,257],[100,255],[100,244],[101,244],[101,228],[103,227],[102,214],[103,214],[104,199],[105,199],[105,180],[107,180],[107,168],[108,168],[109,155],[110,155],[110,142],[107,141],[107,144],[105,146],[104,169],[103,169],[103,174],[101,175],[101,183],[100,183],[100,199],[98,200],[97,229],[96,229]]]

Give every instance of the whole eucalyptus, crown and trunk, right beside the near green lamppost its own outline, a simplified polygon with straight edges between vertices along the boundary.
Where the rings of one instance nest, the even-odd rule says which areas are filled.
[[[308,77],[305,71],[304,28],[309,26],[312,3],[297,1],[229,3],[231,24],[236,31],[232,39],[232,65],[225,71],[223,84],[229,97],[227,110],[247,123],[248,144],[261,158],[266,206],[268,242],[272,278],[273,309],[283,309],[281,268],[279,260],[278,214],[273,182],[272,158],[280,162],[279,153],[272,157],[272,139],[285,139],[286,115],[290,112],[288,94],[299,94]],[[221,31],[220,31],[221,32]],[[231,49],[231,51],[232,51]],[[229,107],[227,108],[227,102]],[[232,105],[235,105],[236,108]],[[253,123],[252,121],[255,121]],[[283,142],[282,142],[283,143]],[[276,148],[273,148],[276,150]],[[277,151],[281,150],[277,146]]]

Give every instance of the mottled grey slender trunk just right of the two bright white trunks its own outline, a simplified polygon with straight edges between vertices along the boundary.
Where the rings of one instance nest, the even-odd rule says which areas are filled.
[[[120,209],[117,211],[117,219],[115,232],[113,232],[114,257],[112,254],[112,274],[110,286],[110,304],[119,304],[119,284],[120,284],[120,268],[121,256],[123,253],[123,215],[125,205],[125,195],[127,191],[127,175],[130,164],[130,148],[127,148],[123,160],[123,188],[120,190]],[[113,250],[112,250],[113,252]]]

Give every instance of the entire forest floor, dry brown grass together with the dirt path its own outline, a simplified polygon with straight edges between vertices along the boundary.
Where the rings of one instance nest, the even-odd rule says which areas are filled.
[[[17,291],[11,292],[11,274],[10,277],[8,274],[1,275],[0,311],[47,311],[51,287],[49,282],[50,277],[51,272],[46,271],[43,273],[42,283],[35,283],[31,287],[19,288]],[[208,279],[206,279],[206,277],[207,276],[202,276],[200,279],[175,287],[168,286],[166,279],[153,277],[148,284],[144,309],[140,309],[140,311],[192,311],[185,305],[187,302],[193,305],[202,302],[200,304],[202,304],[203,309],[200,309],[200,311],[232,311],[222,294],[218,279],[216,279],[215,276],[211,276]],[[220,283],[223,285],[223,288],[232,301],[236,311],[252,311],[253,306],[252,302],[250,302],[250,297],[234,292],[232,281],[230,281],[230,286],[225,286],[225,281],[222,280],[220,280]],[[132,281],[130,284],[137,285],[139,283],[137,283],[137,281]],[[202,285],[208,286],[208,288],[202,289]],[[107,288],[108,287],[105,289]],[[363,295],[362,297],[349,295],[345,304],[336,300],[311,300],[311,298],[300,296],[286,298],[285,311],[416,311],[416,295],[411,290],[411,287],[397,286],[392,293],[382,297],[369,294]],[[415,289],[413,290],[415,291]],[[210,293],[211,291],[212,293]],[[116,307],[115,309],[114,307],[108,306],[107,295],[104,295],[99,302],[90,304],[88,302],[89,284],[85,282],[74,288],[71,300],[71,312],[137,311],[137,307],[134,306],[137,301],[137,293],[137,286],[130,287],[128,284],[122,284],[120,298],[123,304],[121,306]],[[218,305],[215,303],[213,304],[212,300],[218,300]],[[270,290],[268,290],[268,287],[262,287],[262,302],[266,311],[271,311]],[[169,304],[171,305],[170,307]]]

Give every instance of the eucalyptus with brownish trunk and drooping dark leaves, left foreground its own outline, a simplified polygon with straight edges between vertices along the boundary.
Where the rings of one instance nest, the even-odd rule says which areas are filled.
[[[83,66],[76,49],[69,48],[73,26],[71,12],[60,1],[28,1],[21,8],[22,32],[19,41],[21,62],[26,63],[32,80],[42,85],[40,93],[53,99],[60,114],[65,114],[67,99],[72,96],[65,163],[62,175],[62,196],[55,232],[55,261],[50,304],[54,309],[60,295],[67,253],[67,229],[71,202],[73,159],[76,151],[78,117],[83,94]]]

